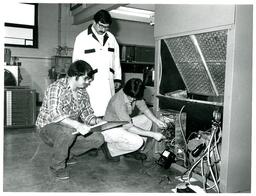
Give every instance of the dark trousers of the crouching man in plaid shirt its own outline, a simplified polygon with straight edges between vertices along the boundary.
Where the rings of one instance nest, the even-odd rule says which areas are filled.
[[[91,149],[99,148],[104,143],[104,137],[99,132],[83,135],[72,135],[76,130],[60,123],[52,123],[38,130],[40,138],[53,147],[51,167],[60,169],[66,167],[69,155],[81,155]]]

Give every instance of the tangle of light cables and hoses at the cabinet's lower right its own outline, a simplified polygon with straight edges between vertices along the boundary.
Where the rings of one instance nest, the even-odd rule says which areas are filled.
[[[213,120],[211,129],[206,132],[199,132],[195,139],[192,139],[188,143],[188,149],[190,150],[190,168],[183,173],[183,176],[187,174],[187,183],[190,183],[192,172],[199,166],[203,182],[203,189],[207,192],[210,189],[215,189],[216,192],[220,192],[220,171],[219,164],[221,161],[220,157],[220,141],[222,136],[221,129],[221,113],[218,109],[213,112]],[[200,143],[196,142],[201,140]],[[214,185],[210,185],[210,181],[213,181]]]

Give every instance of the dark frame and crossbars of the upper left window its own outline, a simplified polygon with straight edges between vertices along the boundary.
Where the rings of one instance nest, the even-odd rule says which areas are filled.
[[[20,44],[7,44],[5,43],[4,46],[7,47],[19,47],[19,48],[38,48],[38,3],[25,3],[35,6],[35,14],[34,14],[34,25],[24,25],[24,24],[15,24],[15,23],[8,23],[5,22],[5,27],[16,27],[21,29],[32,29],[33,30],[33,45],[20,45]]]

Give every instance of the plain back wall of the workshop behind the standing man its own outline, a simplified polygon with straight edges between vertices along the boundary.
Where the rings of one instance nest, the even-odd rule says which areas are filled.
[[[73,48],[76,35],[87,28],[91,22],[72,25],[73,19],[69,11],[69,4],[61,6],[61,25],[58,25],[58,4],[42,4],[38,6],[39,48],[8,47],[12,56],[18,56],[22,63],[22,86],[30,86],[39,93],[42,100],[43,93],[49,85],[48,69],[51,57],[56,55],[56,48],[67,46]],[[58,28],[61,36],[58,37]],[[114,21],[113,32],[120,43],[136,45],[154,45],[153,27],[148,24],[128,21]],[[69,52],[72,55],[72,51]]]

